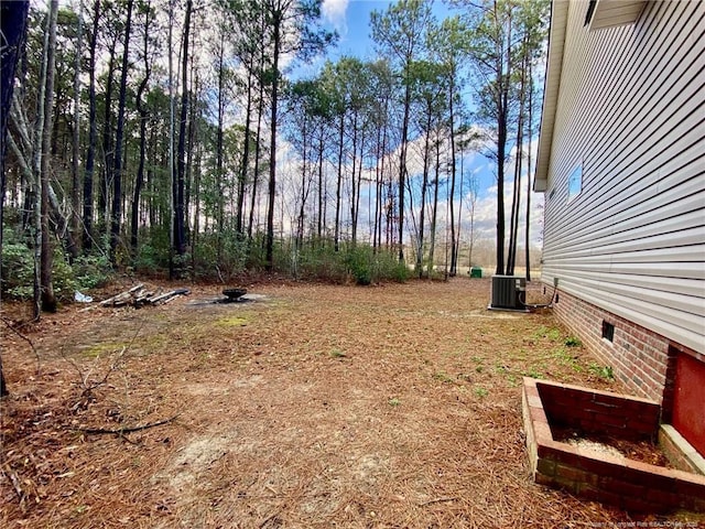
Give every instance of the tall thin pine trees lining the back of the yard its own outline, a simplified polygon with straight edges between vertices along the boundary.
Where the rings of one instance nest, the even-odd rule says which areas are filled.
[[[471,150],[495,162],[496,271],[513,273],[547,2],[451,7],[375,11],[377,58],[302,77],[336,45],[321,0],[32,4],[7,112],[3,291],[31,291],[39,317],[66,270],[423,276],[441,225],[455,274]]]

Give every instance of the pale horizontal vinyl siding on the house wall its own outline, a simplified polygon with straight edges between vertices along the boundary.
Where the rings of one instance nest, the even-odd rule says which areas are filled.
[[[705,2],[597,31],[586,9],[568,8],[542,279],[705,353]]]

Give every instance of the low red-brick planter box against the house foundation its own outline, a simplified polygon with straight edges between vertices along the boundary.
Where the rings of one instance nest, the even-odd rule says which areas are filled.
[[[522,410],[534,481],[629,511],[705,511],[705,476],[572,445],[554,431],[655,440],[658,403],[524,378]]]

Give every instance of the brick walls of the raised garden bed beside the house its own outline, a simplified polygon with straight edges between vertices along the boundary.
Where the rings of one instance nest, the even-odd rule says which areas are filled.
[[[577,392],[585,395],[576,400]],[[629,511],[669,512],[679,508],[705,511],[705,476],[601,454],[556,441],[551,432],[552,418],[544,407],[552,406],[553,401],[562,400],[563,397],[567,401],[607,402],[614,406],[609,409],[625,419],[619,419],[625,424],[632,413],[652,414],[653,408],[658,408],[655,402],[643,399],[524,378],[522,414],[529,462],[536,483]],[[617,400],[623,402],[618,404]],[[579,415],[579,410],[574,409],[563,417],[570,420],[576,413]],[[638,424],[639,418],[632,419],[637,421],[634,425]],[[652,418],[646,422],[652,424]],[[643,430],[647,429],[646,422]],[[652,436],[655,431],[641,431],[639,434]]]

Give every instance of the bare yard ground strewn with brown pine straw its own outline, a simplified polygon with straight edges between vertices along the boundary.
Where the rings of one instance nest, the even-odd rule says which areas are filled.
[[[522,376],[623,391],[550,311],[487,311],[488,280],[466,278],[270,282],[248,287],[253,301],[203,303],[220,289],[140,310],[67,306],[22,328],[34,352],[2,324],[0,527],[632,520],[531,481]]]

